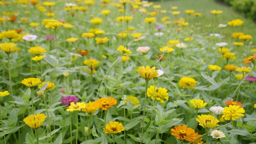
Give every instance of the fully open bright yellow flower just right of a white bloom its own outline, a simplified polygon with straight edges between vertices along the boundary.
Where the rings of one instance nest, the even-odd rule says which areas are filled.
[[[243,117],[245,110],[243,108],[239,108],[238,105],[229,105],[229,107],[225,107],[223,110],[223,116],[225,120],[232,120],[238,119],[240,116]]]

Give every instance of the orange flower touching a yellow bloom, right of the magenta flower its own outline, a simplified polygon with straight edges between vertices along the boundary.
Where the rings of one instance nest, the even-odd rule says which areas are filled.
[[[116,105],[116,104],[117,104],[117,100],[115,98],[102,97],[101,99],[98,99],[97,101],[95,101],[93,105],[96,108],[101,108],[102,110],[107,110],[110,107],[112,107],[112,105]]]

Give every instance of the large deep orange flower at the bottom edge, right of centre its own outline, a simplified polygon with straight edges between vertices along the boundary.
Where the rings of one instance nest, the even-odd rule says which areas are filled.
[[[186,141],[193,141],[196,138],[196,133],[192,128],[187,128],[186,125],[179,125],[175,126],[173,129],[171,129],[172,133],[171,135],[175,136],[176,138],[180,140],[186,140]]]

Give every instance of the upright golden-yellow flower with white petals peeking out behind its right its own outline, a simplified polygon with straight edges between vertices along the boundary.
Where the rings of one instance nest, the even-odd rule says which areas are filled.
[[[149,66],[146,66],[146,68],[144,66],[138,67],[137,72],[145,80],[153,79],[154,77],[156,77],[158,75],[158,73],[157,73],[158,71],[156,70],[156,67],[152,67],[152,68],[150,68]]]

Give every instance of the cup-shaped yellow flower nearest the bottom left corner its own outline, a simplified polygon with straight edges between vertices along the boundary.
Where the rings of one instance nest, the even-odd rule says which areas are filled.
[[[23,121],[26,125],[28,125],[30,128],[38,129],[43,124],[43,121],[46,119],[46,115],[39,113],[39,114],[32,114],[28,117],[26,117]]]

